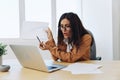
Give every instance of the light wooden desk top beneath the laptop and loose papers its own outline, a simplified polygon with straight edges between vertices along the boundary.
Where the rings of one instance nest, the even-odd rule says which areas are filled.
[[[58,70],[52,73],[23,68],[16,60],[8,60],[9,72],[0,72],[0,80],[120,80],[120,61],[85,61],[85,63],[101,64],[100,74],[77,74]],[[68,65],[70,63],[61,63]]]

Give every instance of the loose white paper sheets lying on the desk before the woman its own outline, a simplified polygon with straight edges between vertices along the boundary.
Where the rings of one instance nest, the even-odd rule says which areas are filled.
[[[72,74],[98,74],[102,73],[102,71],[100,70],[101,67],[102,65],[98,64],[73,63],[62,70],[70,71]]]

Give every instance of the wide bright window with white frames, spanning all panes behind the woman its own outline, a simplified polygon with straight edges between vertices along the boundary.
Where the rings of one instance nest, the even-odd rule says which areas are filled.
[[[31,38],[33,29],[47,23],[56,35],[61,14],[81,16],[81,0],[0,0],[0,10],[0,38]]]

